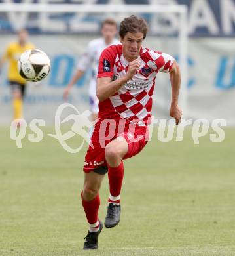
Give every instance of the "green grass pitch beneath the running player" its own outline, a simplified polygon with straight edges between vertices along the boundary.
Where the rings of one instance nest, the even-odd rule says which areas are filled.
[[[81,206],[78,154],[46,136],[22,140],[0,129],[0,255],[235,255],[235,129],[224,142],[209,135],[195,145],[159,142],[154,132],[138,156],[124,162],[122,213],[104,228],[98,251],[82,251],[88,229]],[[28,131],[27,131],[28,133]],[[77,139],[70,141],[74,145]],[[99,217],[105,218],[107,177]]]

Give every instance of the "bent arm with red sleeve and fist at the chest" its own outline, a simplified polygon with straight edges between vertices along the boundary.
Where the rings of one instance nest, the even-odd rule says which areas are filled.
[[[138,59],[130,62],[126,75],[112,81],[113,78],[114,57],[105,49],[99,59],[99,73],[96,86],[96,96],[99,101],[106,100],[115,95],[117,91],[139,70],[140,62]]]

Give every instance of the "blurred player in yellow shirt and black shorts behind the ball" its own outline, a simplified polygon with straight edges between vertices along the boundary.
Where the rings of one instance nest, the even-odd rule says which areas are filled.
[[[23,98],[26,91],[26,80],[20,76],[17,62],[24,51],[34,48],[34,45],[27,42],[27,39],[27,30],[19,30],[18,41],[10,43],[7,46],[7,49],[0,60],[0,71],[7,60],[10,62],[7,79],[12,89],[14,119],[22,118]]]

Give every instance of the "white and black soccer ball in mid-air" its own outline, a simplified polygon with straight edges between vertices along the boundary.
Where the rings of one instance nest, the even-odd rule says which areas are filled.
[[[39,49],[27,50],[18,60],[18,72],[27,81],[41,81],[50,72],[50,59]]]

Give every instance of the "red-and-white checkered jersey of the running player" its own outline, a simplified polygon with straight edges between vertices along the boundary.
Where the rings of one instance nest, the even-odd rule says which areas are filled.
[[[158,72],[170,72],[174,58],[160,51],[141,47],[140,68],[134,77],[124,84],[115,95],[99,102],[99,117],[120,118],[147,125],[152,110],[152,96]],[[98,78],[123,77],[129,62],[122,54],[122,45],[107,47],[99,58]]]

